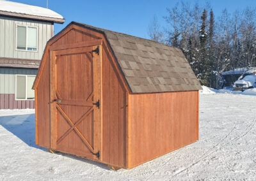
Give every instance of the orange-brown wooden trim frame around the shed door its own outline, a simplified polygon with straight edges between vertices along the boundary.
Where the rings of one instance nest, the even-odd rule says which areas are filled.
[[[102,40],[97,41],[100,45],[92,47],[77,47],[65,50],[49,51],[49,118],[50,118],[50,147],[57,148],[57,103],[52,101],[57,99],[56,91],[56,60],[60,55],[79,54],[91,52],[99,46],[99,55],[93,55],[93,100],[100,100],[100,108],[93,106],[93,159],[102,161]],[[89,148],[90,150],[90,148]],[[92,151],[92,150],[90,150]],[[100,153],[98,157],[96,152]]]

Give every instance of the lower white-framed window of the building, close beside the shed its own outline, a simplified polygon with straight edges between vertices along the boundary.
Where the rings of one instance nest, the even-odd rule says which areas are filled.
[[[32,89],[35,75],[16,75],[15,98],[17,100],[35,99],[35,91]]]

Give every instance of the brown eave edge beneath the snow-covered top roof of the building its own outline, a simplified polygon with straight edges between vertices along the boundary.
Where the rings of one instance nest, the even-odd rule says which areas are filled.
[[[0,11],[0,16],[16,17],[16,18],[29,19],[29,20],[39,20],[42,22],[53,22],[53,23],[58,23],[58,24],[63,24],[65,22],[64,18],[40,17],[40,16],[36,16],[36,15],[12,13],[12,12],[8,12],[8,11]]]

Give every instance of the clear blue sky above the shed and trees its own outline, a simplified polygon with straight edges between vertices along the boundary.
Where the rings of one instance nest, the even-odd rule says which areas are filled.
[[[46,8],[47,0],[12,0],[18,3],[31,4]],[[166,27],[164,16],[166,8],[172,8],[179,0],[48,0],[49,9],[60,13],[65,18],[64,24],[54,25],[54,34],[66,27],[70,22],[84,24],[131,34],[141,38],[148,37],[148,25],[156,15],[161,27]],[[197,2],[204,6],[211,4],[214,15],[218,17],[221,11],[227,8],[232,13],[243,10],[247,6],[256,8],[256,0],[197,0],[186,1],[190,4]]]

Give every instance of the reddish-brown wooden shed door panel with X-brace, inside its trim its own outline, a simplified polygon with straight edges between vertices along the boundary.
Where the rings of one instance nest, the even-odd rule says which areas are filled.
[[[96,145],[93,134],[97,129],[93,115],[98,108],[94,108],[92,100],[95,96],[92,54],[61,55],[56,66],[56,92],[61,99],[57,103],[57,150],[93,159]]]

